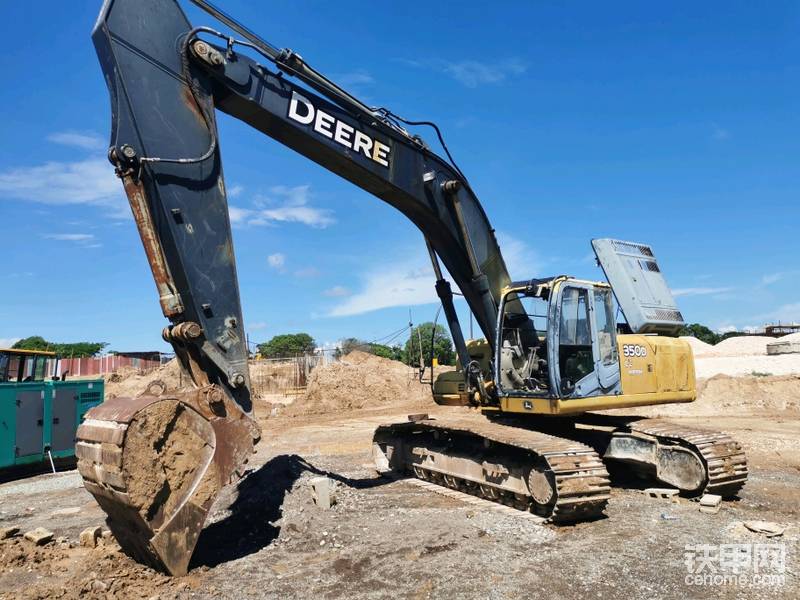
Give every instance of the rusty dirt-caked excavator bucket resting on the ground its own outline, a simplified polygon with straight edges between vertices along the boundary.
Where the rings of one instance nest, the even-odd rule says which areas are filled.
[[[78,471],[126,553],[183,575],[214,498],[241,476],[258,437],[215,386],[113,398],[78,428]]]

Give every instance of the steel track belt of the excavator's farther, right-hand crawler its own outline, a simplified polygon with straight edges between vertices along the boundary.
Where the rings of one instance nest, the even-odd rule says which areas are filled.
[[[726,433],[687,427],[662,419],[643,419],[629,426],[631,432],[652,436],[661,445],[681,445],[699,456],[706,469],[703,485],[690,495],[736,496],[747,480],[747,457],[741,444]]]

